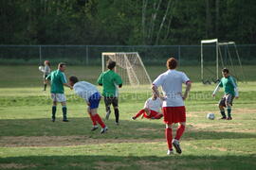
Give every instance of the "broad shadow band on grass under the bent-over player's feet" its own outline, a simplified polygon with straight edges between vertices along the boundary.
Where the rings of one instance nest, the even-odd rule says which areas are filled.
[[[87,136],[93,139],[163,139],[164,124],[156,124],[154,121],[121,120],[116,126],[115,121],[103,120],[109,127],[106,134],[100,135],[100,129],[90,131],[91,120],[85,118],[70,118],[70,122],[64,123],[58,118],[55,123],[50,119],[2,119],[0,120],[0,136]],[[242,132],[216,132],[208,130],[191,130],[187,127],[183,139],[240,139],[256,138],[256,134]]]

